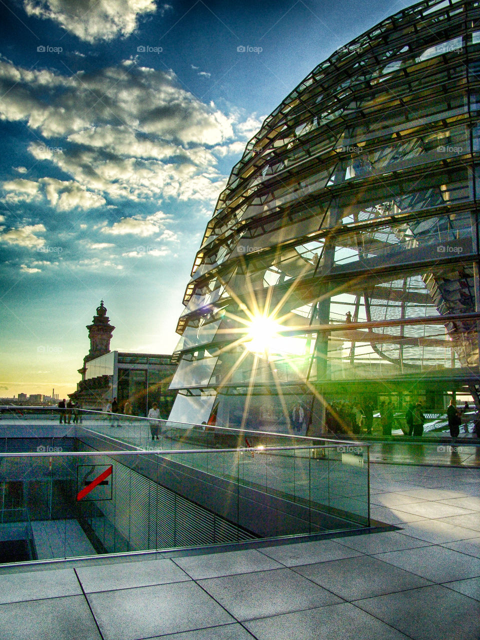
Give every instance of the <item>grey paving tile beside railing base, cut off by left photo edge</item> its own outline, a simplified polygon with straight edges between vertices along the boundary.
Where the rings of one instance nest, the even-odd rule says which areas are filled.
[[[0,575],[0,604],[74,595],[82,590],[73,569]]]

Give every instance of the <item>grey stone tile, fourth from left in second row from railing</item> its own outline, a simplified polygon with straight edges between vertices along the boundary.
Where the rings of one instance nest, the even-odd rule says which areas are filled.
[[[358,600],[430,584],[403,569],[369,556],[298,566],[295,571],[344,600]]]

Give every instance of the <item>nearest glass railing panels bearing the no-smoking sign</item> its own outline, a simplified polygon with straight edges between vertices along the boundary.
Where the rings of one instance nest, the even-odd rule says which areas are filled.
[[[0,563],[369,525],[362,444],[95,451],[92,433],[0,454]]]

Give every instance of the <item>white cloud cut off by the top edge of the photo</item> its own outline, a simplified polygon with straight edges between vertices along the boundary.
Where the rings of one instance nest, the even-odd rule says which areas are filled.
[[[141,16],[154,13],[155,0],[24,0],[29,16],[53,20],[86,42],[129,36]],[[163,15],[168,5],[161,7]]]

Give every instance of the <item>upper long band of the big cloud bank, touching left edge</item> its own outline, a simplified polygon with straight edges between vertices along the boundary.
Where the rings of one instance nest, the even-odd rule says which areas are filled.
[[[131,60],[75,76],[0,60],[0,89],[1,117],[26,121],[45,138],[112,123],[186,144],[213,145],[233,135],[232,118],[180,88],[172,71],[137,67]]]

